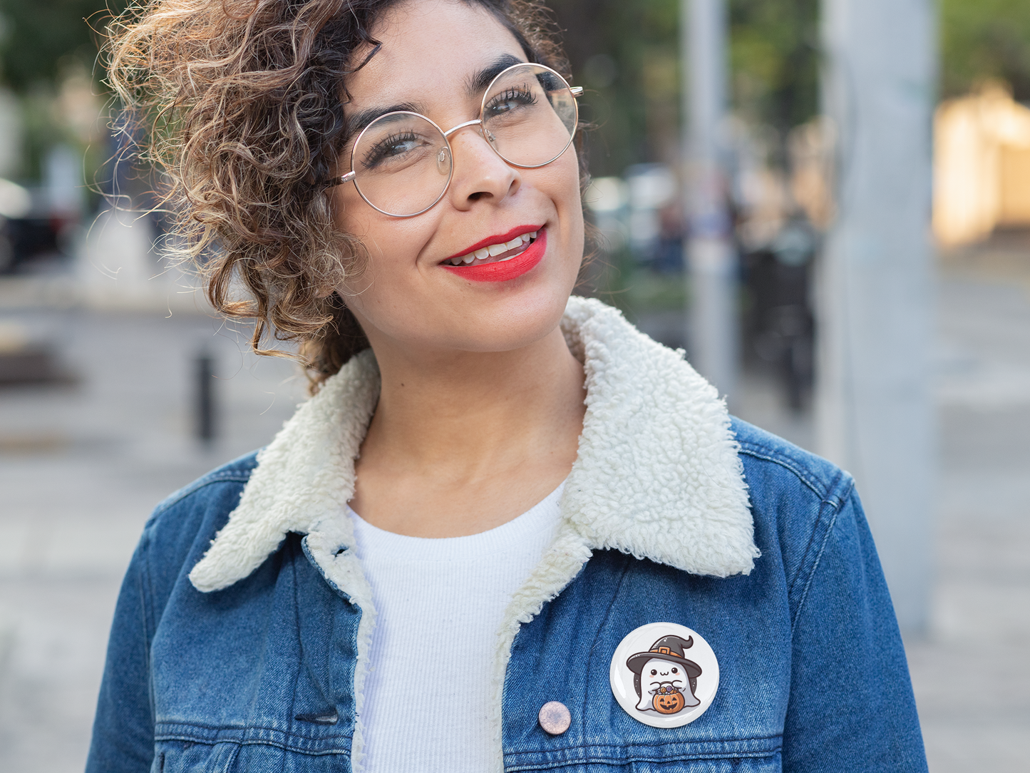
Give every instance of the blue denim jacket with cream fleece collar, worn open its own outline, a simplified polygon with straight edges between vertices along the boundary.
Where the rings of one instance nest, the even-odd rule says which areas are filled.
[[[925,771],[851,477],[731,418],[614,309],[573,298],[562,331],[587,408],[558,535],[497,632],[494,770]],[[360,770],[375,609],[344,506],[378,390],[364,352],[267,448],[157,508],[115,611],[89,773]],[[609,682],[619,643],[656,621],[718,658],[715,699],[682,727],[638,721]],[[571,715],[555,735],[538,718],[551,701]]]

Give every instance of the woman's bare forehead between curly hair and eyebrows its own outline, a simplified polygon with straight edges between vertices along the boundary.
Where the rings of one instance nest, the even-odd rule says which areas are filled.
[[[389,8],[372,29],[381,43],[346,82],[349,106],[453,100],[469,78],[505,54],[525,60],[515,36],[489,10],[460,0],[408,0]],[[354,61],[369,48],[355,52]]]

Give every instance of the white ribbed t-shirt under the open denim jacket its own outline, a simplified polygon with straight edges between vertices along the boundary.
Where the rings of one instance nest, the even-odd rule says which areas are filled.
[[[378,615],[359,721],[368,773],[482,773],[497,629],[558,529],[564,483],[496,529],[425,539],[353,510],[355,549]]]

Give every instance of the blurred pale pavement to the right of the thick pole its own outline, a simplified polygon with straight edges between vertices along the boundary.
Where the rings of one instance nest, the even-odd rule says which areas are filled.
[[[932,627],[907,643],[933,773],[1028,769],[1030,240],[946,256]]]

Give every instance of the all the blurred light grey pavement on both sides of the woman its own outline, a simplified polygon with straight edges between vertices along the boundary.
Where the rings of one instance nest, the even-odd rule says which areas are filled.
[[[952,256],[938,288],[933,626],[907,642],[934,773],[1023,771],[1030,741],[1030,249],[1009,253]],[[178,307],[0,306],[11,321],[57,340],[79,380],[0,392],[0,770],[71,773],[150,509],[267,443],[306,384],[289,362],[241,354],[244,336]],[[220,406],[211,447],[192,437],[205,348]],[[737,410],[811,443],[811,421],[786,413],[765,381],[745,381]]]

